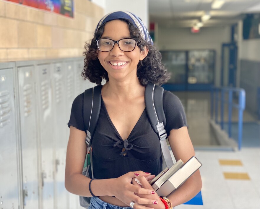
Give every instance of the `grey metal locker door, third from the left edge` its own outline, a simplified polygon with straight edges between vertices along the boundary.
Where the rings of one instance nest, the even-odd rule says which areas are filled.
[[[36,67],[37,79],[37,106],[38,106],[38,133],[40,147],[40,165],[42,184],[40,185],[43,200],[43,209],[54,207],[54,149],[52,123],[52,96],[51,96],[51,65]]]

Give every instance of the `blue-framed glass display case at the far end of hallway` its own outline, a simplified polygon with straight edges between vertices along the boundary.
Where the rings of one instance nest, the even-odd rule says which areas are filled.
[[[171,78],[163,87],[169,91],[210,90],[214,84],[215,51],[161,51]]]

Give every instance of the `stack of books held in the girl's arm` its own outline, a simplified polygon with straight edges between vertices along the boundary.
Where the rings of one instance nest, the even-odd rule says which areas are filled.
[[[202,166],[195,156],[192,156],[185,164],[178,160],[170,169],[166,168],[160,172],[150,184],[159,196],[168,196],[176,190],[189,177]]]

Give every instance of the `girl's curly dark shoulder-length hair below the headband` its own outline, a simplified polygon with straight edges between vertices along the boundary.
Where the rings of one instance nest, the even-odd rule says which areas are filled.
[[[162,85],[168,81],[170,76],[161,62],[161,53],[151,43],[144,41],[139,29],[137,29],[129,20],[119,20],[128,24],[130,35],[132,38],[137,39],[137,46],[139,49],[143,51],[144,47],[147,47],[149,50],[147,56],[142,61],[139,61],[137,65],[137,77],[140,83],[143,86],[146,86],[148,82]],[[83,55],[85,55],[85,65],[81,75],[90,82],[96,83],[98,85],[101,84],[102,79],[105,79],[106,81],[109,80],[107,71],[99,62],[97,53],[98,48],[95,42],[95,39],[98,39],[102,36],[104,27],[105,23],[100,26],[97,32],[95,32],[93,39],[90,40],[90,43],[86,42],[86,51],[83,52]]]

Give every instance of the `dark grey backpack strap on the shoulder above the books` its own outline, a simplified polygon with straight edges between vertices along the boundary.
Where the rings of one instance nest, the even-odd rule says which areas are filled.
[[[164,89],[161,86],[148,83],[145,88],[144,99],[150,124],[160,139],[163,168],[170,168],[173,166],[173,160],[166,142],[167,133],[164,129],[166,118],[163,111],[163,91]]]

